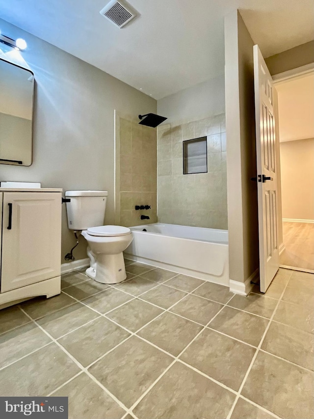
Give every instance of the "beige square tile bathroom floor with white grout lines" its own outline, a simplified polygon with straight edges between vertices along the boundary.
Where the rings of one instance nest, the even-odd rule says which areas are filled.
[[[313,274],[242,297],[126,265],[0,311],[0,395],[69,396],[73,419],[314,418]]]

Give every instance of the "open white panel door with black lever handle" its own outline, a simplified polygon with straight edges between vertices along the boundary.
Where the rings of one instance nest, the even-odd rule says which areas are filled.
[[[254,45],[256,153],[258,173],[260,288],[266,292],[279,269],[276,136],[272,78]]]

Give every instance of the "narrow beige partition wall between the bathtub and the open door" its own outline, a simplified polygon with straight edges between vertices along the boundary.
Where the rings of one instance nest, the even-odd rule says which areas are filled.
[[[230,279],[244,282],[259,267],[254,42],[237,11],[225,17],[227,191]]]

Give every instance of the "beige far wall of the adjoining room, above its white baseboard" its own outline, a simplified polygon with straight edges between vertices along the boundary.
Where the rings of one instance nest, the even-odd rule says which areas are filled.
[[[283,218],[314,220],[314,139],[280,143]]]

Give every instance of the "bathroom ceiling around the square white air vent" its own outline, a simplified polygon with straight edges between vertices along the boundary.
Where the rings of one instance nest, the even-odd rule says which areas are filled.
[[[313,0],[129,0],[140,16],[122,29],[100,15],[108,1],[1,1],[0,17],[155,99],[223,74],[236,8],[264,57],[314,39]]]

